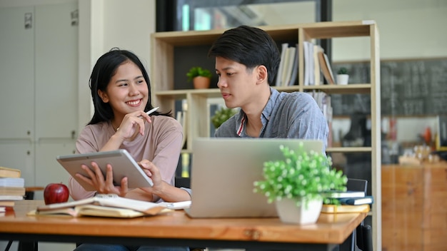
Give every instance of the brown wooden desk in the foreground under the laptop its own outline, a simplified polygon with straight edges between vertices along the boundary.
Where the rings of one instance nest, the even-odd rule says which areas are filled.
[[[331,250],[351,235],[366,213],[321,215],[313,225],[278,218],[191,219],[183,210],[155,217],[26,216],[41,200],[16,203],[0,217],[0,239],[27,242],[97,242],[131,245]]]

